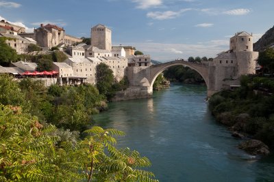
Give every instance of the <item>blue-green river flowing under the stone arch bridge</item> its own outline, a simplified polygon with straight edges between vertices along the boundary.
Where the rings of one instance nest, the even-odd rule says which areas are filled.
[[[160,181],[274,181],[274,156],[251,160],[210,115],[206,87],[171,85],[148,100],[109,104],[97,125],[126,132],[119,147],[139,151]]]

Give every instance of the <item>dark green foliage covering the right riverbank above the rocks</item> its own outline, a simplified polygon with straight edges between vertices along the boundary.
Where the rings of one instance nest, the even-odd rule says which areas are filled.
[[[274,80],[242,76],[240,88],[221,91],[210,98],[210,110],[222,123],[236,127],[240,132],[274,147],[273,89]],[[249,117],[242,123],[236,123],[240,114],[247,114]]]

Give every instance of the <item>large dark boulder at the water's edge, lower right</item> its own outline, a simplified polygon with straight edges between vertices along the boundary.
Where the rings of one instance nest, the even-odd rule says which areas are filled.
[[[260,140],[246,140],[240,143],[238,148],[246,151],[251,155],[268,155],[270,153],[269,147],[267,147],[267,145],[265,145]]]

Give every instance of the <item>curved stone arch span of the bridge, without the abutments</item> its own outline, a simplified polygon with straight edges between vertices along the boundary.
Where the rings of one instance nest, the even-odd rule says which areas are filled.
[[[153,92],[153,83],[155,82],[157,76],[161,74],[166,68],[171,67],[173,65],[184,65],[186,67],[190,67],[192,70],[195,70],[198,72],[203,80],[206,82],[207,88],[209,88],[209,76],[208,76],[208,65],[202,65],[199,63],[190,63],[188,61],[182,61],[182,60],[177,60],[177,61],[171,61],[168,63],[162,63],[159,65],[152,65],[150,67],[150,79],[149,79],[149,85],[150,85],[150,92]]]

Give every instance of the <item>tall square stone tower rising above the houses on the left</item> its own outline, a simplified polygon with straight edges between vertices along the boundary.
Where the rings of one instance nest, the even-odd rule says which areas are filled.
[[[112,31],[105,25],[96,25],[91,29],[91,45],[103,50],[112,50]]]

